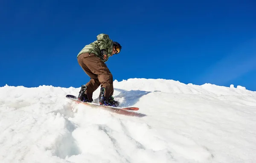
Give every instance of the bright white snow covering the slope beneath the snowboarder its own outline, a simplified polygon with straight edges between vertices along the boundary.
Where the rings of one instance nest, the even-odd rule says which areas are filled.
[[[65,98],[74,87],[0,87],[0,162],[256,162],[256,92],[165,79],[114,88],[121,107],[140,110],[77,104]]]

